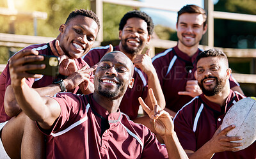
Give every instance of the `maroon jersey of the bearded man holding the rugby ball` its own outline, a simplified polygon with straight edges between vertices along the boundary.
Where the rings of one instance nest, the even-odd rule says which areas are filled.
[[[209,141],[221,125],[226,112],[243,95],[230,90],[226,104],[220,107],[205,98],[204,95],[196,96],[177,112],[174,120],[174,129],[184,149],[197,151]],[[224,151],[215,153],[212,159],[255,159],[256,142],[241,151]]]

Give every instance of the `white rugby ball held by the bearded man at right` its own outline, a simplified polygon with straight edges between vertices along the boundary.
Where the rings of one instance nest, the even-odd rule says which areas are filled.
[[[256,98],[247,97],[236,102],[225,115],[221,130],[230,125],[236,125],[236,128],[227,133],[228,137],[242,137],[243,146],[238,148],[245,149],[256,140]]]

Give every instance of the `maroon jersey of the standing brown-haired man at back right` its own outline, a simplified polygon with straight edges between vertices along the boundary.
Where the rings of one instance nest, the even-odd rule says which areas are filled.
[[[192,99],[191,96],[178,95],[178,92],[186,90],[188,80],[195,80],[196,57],[200,52],[202,50],[198,49],[196,54],[189,57],[176,46],[152,58],[164,93],[166,108],[177,112]],[[234,86],[239,84],[230,76],[230,87]]]

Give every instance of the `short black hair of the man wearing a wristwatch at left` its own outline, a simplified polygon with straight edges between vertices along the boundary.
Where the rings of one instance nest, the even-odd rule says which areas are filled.
[[[93,19],[97,25],[98,25],[98,31],[100,29],[100,20],[97,17],[97,15],[92,11],[92,10],[84,10],[84,9],[80,9],[80,10],[75,10],[72,11],[69,15],[68,18],[65,22],[65,24],[68,24],[68,22],[72,19],[74,19],[74,17],[76,17],[77,15],[83,15],[84,17],[88,17],[90,19]]]

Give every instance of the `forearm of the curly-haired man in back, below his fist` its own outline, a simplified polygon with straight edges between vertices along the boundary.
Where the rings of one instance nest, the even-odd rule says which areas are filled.
[[[149,72],[147,76],[148,76],[148,89],[150,88],[153,89],[158,105],[161,107],[161,109],[164,109],[165,107],[164,94],[161,89],[161,85],[159,83],[156,70],[152,69],[152,72]],[[150,102],[149,96],[147,98],[148,99],[145,102],[148,104],[148,106],[152,107],[152,105],[150,104],[151,102]]]

